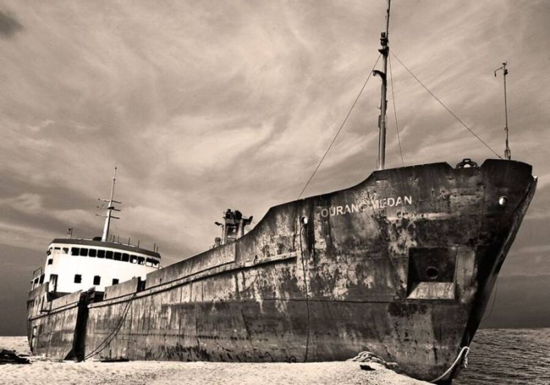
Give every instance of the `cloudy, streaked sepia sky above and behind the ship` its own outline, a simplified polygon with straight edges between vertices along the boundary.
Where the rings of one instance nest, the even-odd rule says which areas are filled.
[[[208,249],[227,208],[259,221],[297,199],[373,68],[385,5],[0,0],[0,309],[24,307],[67,228],[101,235],[115,166],[111,234],[164,265]],[[507,61],[511,155],[539,179],[501,274],[550,275],[550,2],[393,0],[389,37],[501,156]],[[496,157],[395,56],[386,166]],[[304,196],[375,170],[379,104],[371,78]]]

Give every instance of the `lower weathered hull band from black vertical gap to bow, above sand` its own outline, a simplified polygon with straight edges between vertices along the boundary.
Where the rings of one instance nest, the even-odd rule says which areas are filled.
[[[133,311],[149,305],[137,301]],[[155,302],[151,299],[151,302]],[[467,322],[462,305],[309,300],[161,305],[157,318],[132,318],[98,356],[109,359],[319,362],[372,351],[405,373],[435,378],[456,358]],[[99,308],[101,309],[101,308]],[[124,305],[92,311],[86,354],[116,327]],[[282,311],[284,309],[284,311]],[[102,313],[102,314],[99,314]],[[453,316],[450,316],[450,315]],[[169,319],[168,319],[169,318]],[[112,320],[109,322],[109,320]],[[461,327],[457,327],[457,323]],[[155,325],[156,324],[156,325]],[[308,336],[309,335],[309,336]],[[437,373],[437,374],[436,374]]]

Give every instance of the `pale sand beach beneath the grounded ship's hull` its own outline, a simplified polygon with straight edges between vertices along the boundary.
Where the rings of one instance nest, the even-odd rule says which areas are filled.
[[[0,349],[28,353],[25,337],[0,337]],[[362,371],[358,362],[308,364],[227,362],[52,362],[32,358],[30,365],[0,365],[0,384],[33,385],[175,385],[175,384],[361,384],[417,385],[412,380],[369,363],[374,371]]]

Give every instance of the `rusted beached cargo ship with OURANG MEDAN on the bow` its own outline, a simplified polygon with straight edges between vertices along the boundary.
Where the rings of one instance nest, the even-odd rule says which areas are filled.
[[[448,384],[467,359],[536,190],[529,164],[464,159],[385,168],[386,32],[379,162],[364,181],[252,217],[226,210],[205,252],[54,239],[32,277],[28,341],[57,360],[325,362],[370,352]]]

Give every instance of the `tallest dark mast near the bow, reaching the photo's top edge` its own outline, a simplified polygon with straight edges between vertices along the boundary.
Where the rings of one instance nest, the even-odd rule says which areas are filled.
[[[380,76],[382,79],[382,90],[380,96],[380,115],[378,116],[378,128],[380,129],[380,135],[378,137],[378,170],[384,170],[386,164],[386,107],[388,100],[386,100],[386,72],[388,71],[388,52],[390,51],[390,46],[388,45],[389,37],[389,28],[390,28],[390,3],[391,0],[388,0],[388,9],[386,10],[386,32],[380,34],[380,45],[382,47],[378,52],[382,54],[382,71],[375,69],[373,74],[375,76]]]

